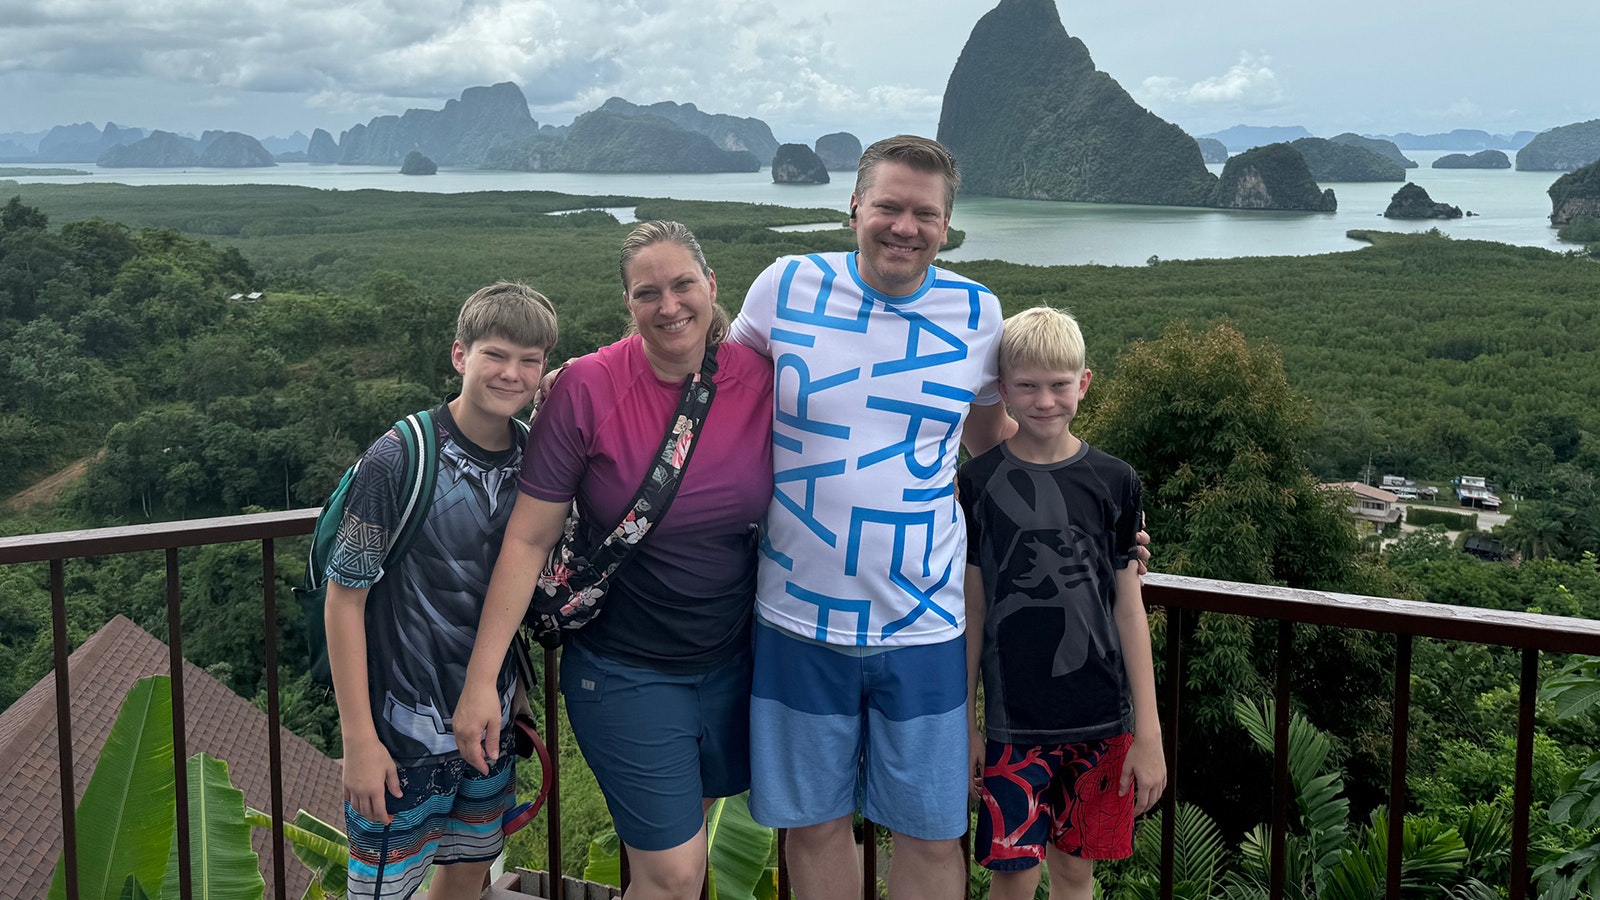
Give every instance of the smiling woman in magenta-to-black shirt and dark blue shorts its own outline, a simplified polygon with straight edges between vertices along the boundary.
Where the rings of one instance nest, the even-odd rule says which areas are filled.
[[[590,546],[632,506],[685,378],[715,346],[715,399],[667,514],[613,577],[598,618],[562,653],[578,746],[629,852],[629,900],[693,898],[706,874],[706,806],[749,788],[755,525],[773,493],[773,367],[722,343],[717,275],[678,223],[622,242],[637,335],[574,360],[528,436],[467,684],[462,757],[498,748],[494,674],[576,500]],[[491,749],[493,753],[493,749]]]

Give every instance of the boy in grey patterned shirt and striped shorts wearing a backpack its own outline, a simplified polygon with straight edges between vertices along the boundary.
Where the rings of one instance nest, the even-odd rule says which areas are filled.
[[[504,844],[512,729],[488,775],[461,761],[450,714],[517,498],[526,407],[555,348],[555,309],[501,282],[474,293],[450,356],[461,392],[362,455],[328,556],[328,660],[344,737],[349,895],[475,898]],[[437,453],[437,456],[427,456]],[[432,476],[432,490],[418,485]],[[405,536],[403,552],[390,554]],[[510,724],[515,668],[498,679]]]

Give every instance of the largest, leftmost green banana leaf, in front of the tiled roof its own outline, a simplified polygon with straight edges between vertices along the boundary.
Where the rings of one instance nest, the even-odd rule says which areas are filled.
[[[106,737],[77,810],[78,897],[117,900],[131,876],[162,884],[178,826],[173,798],[173,692],[168,676],[134,682]],[[66,900],[61,860],[50,900]]]

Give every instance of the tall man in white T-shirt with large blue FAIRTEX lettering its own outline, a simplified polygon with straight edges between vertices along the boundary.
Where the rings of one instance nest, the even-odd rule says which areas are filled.
[[[963,892],[957,442],[979,455],[1016,423],[997,391],[1000,301],[933,266],[958,184],[936,141],[872,144],[850,199],[858,251],[778,259],[733,325],[776,373],[750,807],[790,830],[802,900],[859,890],[858,807],[893,833],[891,897]]]

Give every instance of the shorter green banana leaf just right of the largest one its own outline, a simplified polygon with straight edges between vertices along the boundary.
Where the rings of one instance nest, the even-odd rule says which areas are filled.
[[[194,900],[261,900],[267,890],[250,846],[245,794],[229,780],[227,762],[205,753],[189,757],[189,866]],[[178,900],[178,881],[174,839],[162,900]]]

